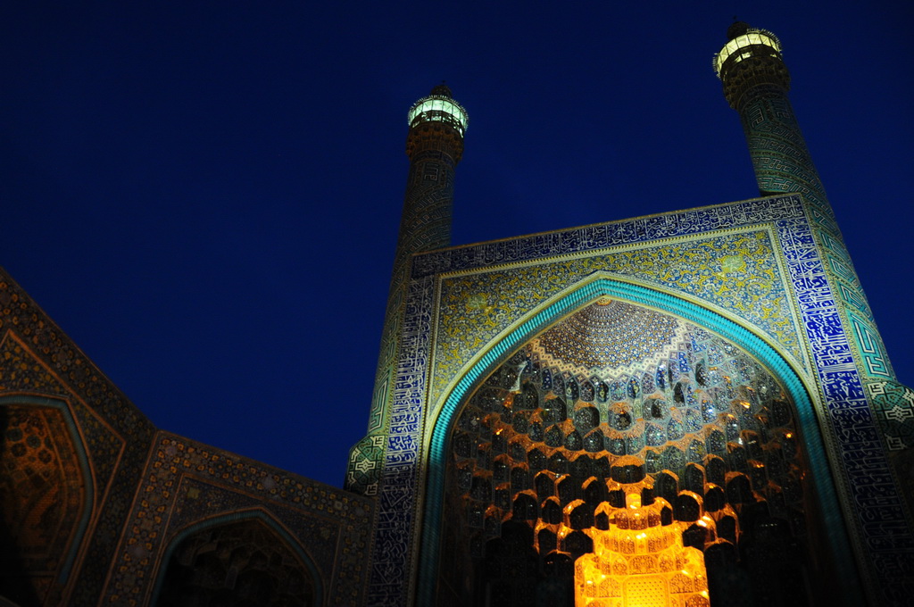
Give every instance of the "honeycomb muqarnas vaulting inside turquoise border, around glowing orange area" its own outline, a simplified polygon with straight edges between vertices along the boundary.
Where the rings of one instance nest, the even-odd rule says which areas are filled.
[[[575,561],[632,499],[703,552],[712,605],[716,592],[815,604],[793,590],[811,566],[801,445],[787,391],[756,358],[600,299],[515,351],[456,416],[440,604],[573,605]]]

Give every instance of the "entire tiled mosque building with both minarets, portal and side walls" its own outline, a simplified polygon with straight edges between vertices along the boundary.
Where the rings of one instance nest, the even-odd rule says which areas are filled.
[[[914,391],[777,37],[714,67],[760,198],[467,247],[467,113],[417,101],[343,490],[154,428],[0,274],[0,605],[909,602]]]

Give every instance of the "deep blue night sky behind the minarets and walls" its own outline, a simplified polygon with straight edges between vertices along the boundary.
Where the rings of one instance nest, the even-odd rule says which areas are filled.
[[[910,3],[634,4],[4,3],[0,265],[158,427],[341,485],[409,105],[470,114],[454,244],[757,197],[711,69],[739,16],[914,383]]]

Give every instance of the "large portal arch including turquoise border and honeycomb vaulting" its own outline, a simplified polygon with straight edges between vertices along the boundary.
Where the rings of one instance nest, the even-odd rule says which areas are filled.
[[[745,326],[631,282],[591,279],[490,345],[441,406],[428,471],[420,604],[492,601],[504,589],[479,582],[501,575],[502,529],[516,545],[521,525],[538,562],[515,604],[537,585],[567,600],[569,562],[590,550],[587,529],[605,525],[600,505],[645,476],[645,499],[662,496],[671,520],[691,524],[684,539],[710,550],[712,567],[739,559],[762,585],[822,570],[818,555],[832,554],[853,576],[792,367]],[[799,568],[772,569],[774,553],[798,549]],[[499,604],[514,604],[510,594]]]

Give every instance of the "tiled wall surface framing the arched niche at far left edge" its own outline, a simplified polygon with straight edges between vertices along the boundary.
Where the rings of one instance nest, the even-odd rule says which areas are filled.
[[[42,590],[45,601],[93,604],[101,594],[123,516],[133,499],[152,424],[3,271],[0,335],[0,413],[5,416],[23,410],[48,420],[62,416],[74,438],[69,447],[57,450],[58,457],[69,453],[58,460],[59,465],[68,470],[82,467],[82,477],[87,481],[79,506],[86,511],[80,515],[82,522],[73,536],[77,543],[69,548],[69,556],[49,566],[54,573],[48,576],[53,581]],[[72,458],[83,463],[77,464]],[[43,491],[48,497],[57,489],[46,484]],[[30,494],[8,494],[15,495]],[[31,516],[23,520],[34,522]],[[48,516],[41,519],[41,525],[60,520]]]

